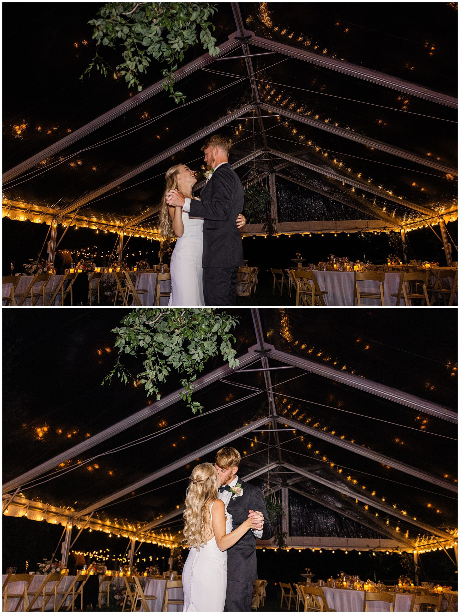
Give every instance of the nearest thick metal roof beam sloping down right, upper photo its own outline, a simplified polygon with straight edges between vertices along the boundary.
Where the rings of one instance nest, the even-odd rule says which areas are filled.
[[[257,36],[255,33],[249,30],[245,30],[245,36],[251,37],[250,45],[255,45],[255,47],[275,51],[277,53],[281,53],[282,55],[287,55],[290,58],[295,58],[296,60],[302,60],[315,64],[315,66],[321,66],[322,68],[343,72],[348,76],[356,77],[357,79],[362,79],[376,85],[381,85],[382,87],[388,87],[391,90],[404,91],[411,96],[424,98],[432,103],[443,104],[453,109],[456,109],[458,105],[457,99],[453,98],[453,96],[447,96],[438,91],[429,90],[426,87],[423,87],[423,85],[414,84],[403,79],[397,79],[397,77],[392,77],[391,75],[384,74],[383,72],[373,71],[369,68],[357,66],[356,64],[352,64],[350,62],[328,58],[325,55],[311,53],[305,51],[304,49],[299,49],[299,47],[286,45],[274,39],[265,39],[261,36]]]

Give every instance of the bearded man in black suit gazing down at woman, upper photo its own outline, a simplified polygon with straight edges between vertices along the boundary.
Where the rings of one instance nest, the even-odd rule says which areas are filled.
[[[243,244],[235,220],[243,211],[244,190],[228,163],[231,141],[214,134],[201,148],[211,178],[201,200],[184,198],[178,190],[166,194],[167,204],[183,208],[203,225],[203,293],[205,305],[236,305],[237,271],[243,266]]]

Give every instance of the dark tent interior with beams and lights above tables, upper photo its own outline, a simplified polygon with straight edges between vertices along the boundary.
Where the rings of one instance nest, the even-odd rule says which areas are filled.
[[[6,20],[17,6],[4,6]],[[279,241],[261,223],[242,231],[259,266],[289,263],[295,249],[383,262],[402,255],[402,237],[410,258],[444,263],[451,243],[457,259],[456,4],[219,4],[221,52],[186,52],[178,105],[161,64],[140,93],[116,74],[80,80],[97,5],[26,7],[25,42],[4,67],[7,264],[39,252],[52,219],[58,234],[73,227],[61,249],[98,265],[106,233],[121,231],[133,236],[131,265],[154,261],[165,171],[181,161],[202,179],[200,147],[216,131],[232,139],[241,181],[271,190]],[[7,29],[6,45],[14,36]],[[105,52],[116,66],[119,50]]]

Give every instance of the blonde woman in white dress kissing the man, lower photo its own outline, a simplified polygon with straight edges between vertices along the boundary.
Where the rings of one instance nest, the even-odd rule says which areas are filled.
[[[190,476],[184,510],[184,542],[189,555],[182,572],[183,612],[223,612],[227,592],[226,550],[248,530],[248,518],[232,531],[232,517],[218,499],[221,478],[209,462],[197,465]]]

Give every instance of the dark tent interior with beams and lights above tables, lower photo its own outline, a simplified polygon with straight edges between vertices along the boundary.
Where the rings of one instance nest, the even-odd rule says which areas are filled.
[[[227,443],[239,475],[287,511],[282,541],[258,546],[260,577],[397,580],[415,552],[421,580],[453,585],[456,313],[436,326],[426,309],[236,313],[240,365],[208,360],[196,415],[175,373],[158,402],[101,387],[122,310],[4,314],[4,564],[49,557],[71,519],[74,548],[109,548],[109,569],[135,538],[138,565],[167,569],[191,469]]]

